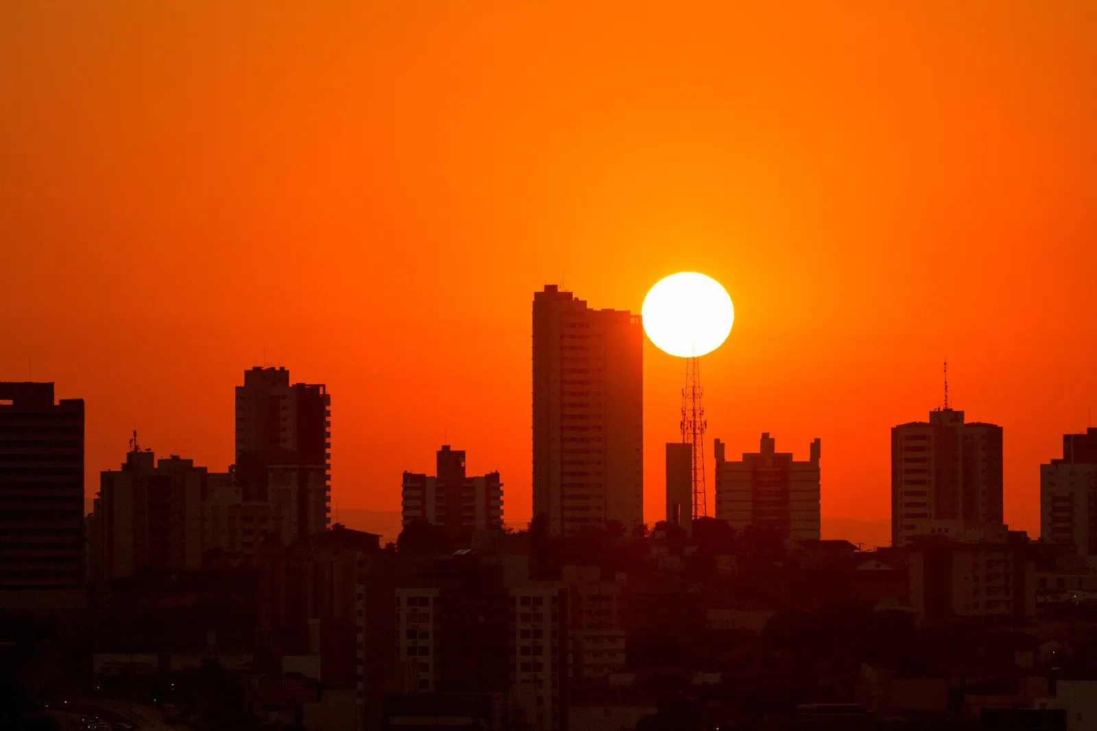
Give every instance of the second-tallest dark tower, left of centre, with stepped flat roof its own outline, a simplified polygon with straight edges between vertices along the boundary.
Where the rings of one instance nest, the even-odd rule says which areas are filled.
[[[284,367],[244,372],[236,387],[236,479],[246,502],[281,504],[297,537],[324,530],[330,448],[331,396],[323,384],[291,386]]]

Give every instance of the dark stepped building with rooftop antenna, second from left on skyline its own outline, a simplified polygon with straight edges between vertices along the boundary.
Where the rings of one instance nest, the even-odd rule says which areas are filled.
[[[91,537],[94,583],[109,585],[144,571],[197,571],[208,545],[204,503],[228,489],[227,473],[210,475],[176,455],[156,459],[136,444],[121,470],[100,473]]]

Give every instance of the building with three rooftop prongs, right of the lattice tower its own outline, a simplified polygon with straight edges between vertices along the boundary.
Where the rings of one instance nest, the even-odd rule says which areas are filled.
[[[740,461],[724,458],[724,444],[715,442],[716,517],[736,530],[748,525],[776,530],[784,538],[819,538],[821,441],[811,446],[807,461],[776,450],[769,433],[761,435],[759,452],[744,453]]]

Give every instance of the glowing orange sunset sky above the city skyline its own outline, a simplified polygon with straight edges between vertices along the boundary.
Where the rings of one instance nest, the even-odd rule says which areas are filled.
[[[3,3],[0,379],[87,399],[93,489],[134,424],[224,469],[265,352],[333,395],[339,505],[448,434],[519,518],[533,290],[695,270],[710,437],[819,436],[824,515],[886,517],[947,355],[1038,530],[1097,401],[1097,4],[835,4]],[[649,519],[682,377],[648,345]]]

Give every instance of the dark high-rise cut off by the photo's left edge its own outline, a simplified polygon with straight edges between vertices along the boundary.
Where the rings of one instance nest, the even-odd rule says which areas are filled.
[[[0,609],[84,605],[83,530],[83,400],[0,382]]]

